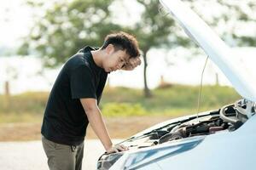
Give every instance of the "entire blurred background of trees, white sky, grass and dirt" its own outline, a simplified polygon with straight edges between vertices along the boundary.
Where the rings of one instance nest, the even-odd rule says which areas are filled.
[[[184,1],[234,48],[256,56],[255,0]],[[0,1],[0,141],[40,139],[49,91],[65,61],[114,31],[137,37],[143,65],[109,74],[100,105],[113,138],[194,114],[207,56],[156,0]],[[232,56],[231,56],[232,57]],[[210,60],[200,111],[241,96]],[[88,129],[88,139],[96,138]]]

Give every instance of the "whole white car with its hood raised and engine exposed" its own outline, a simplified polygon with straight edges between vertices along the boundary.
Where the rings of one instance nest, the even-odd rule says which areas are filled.
[[[215,111],[178,117],[137,133],[120,143],[130,150],[102,155],[97,169],[256,169],[256,83],[251,72],[244,73],[231,48],[184,3],[160,3],[218,65],[241,99]]]

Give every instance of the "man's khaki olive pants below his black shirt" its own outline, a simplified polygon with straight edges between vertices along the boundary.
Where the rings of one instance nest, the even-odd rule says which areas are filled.
[[[77,146],[57,144],[42,136],[44,152],[48,158],[49,170],[81,170],[84,156],[84,142]]]

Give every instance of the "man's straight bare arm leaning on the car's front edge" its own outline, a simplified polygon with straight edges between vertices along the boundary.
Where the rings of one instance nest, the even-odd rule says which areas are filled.
[[[96,133],[97,137],[101,140],[105,150],[108,153],[128,150],[124,145],[113,145],[108,130],[102,119],[102,113],[96,104],[96,99],[80,99],[84,111],[90,122],[90,126]]]

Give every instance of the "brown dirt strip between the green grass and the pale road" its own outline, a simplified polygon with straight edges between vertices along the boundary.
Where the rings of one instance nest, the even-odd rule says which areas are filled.
[[[171,118],[171,116],[122,116],[107,117],[105,120],[111,138],[126,139],[147,127]],[[40,122],[0,123],[0,141],[39,140],[40,130]],[[90,125],[86,139],[96,139]]]

